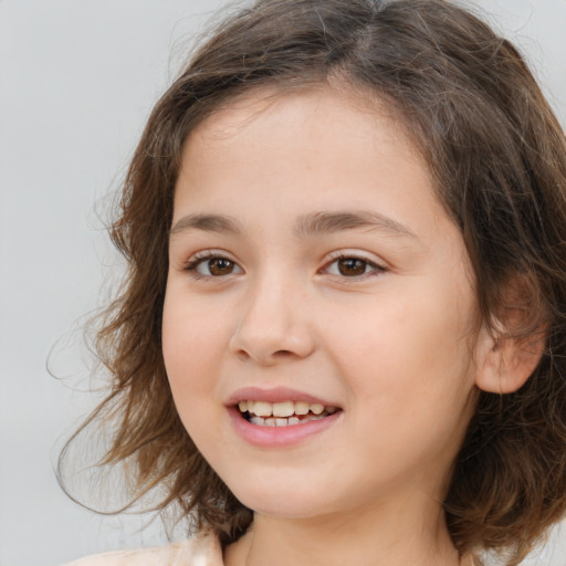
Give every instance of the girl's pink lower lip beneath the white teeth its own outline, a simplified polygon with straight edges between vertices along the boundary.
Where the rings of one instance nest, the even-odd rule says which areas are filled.
[[[324,432],[332,427],[342,415],[336,411],[323,419],[289,424],[286,427],[261,427],[247,421],[242,413],[234,407],[229,407],[228,412],[237,433],[245,442],[261,448],[282,448],[298,444],[303,440]]]

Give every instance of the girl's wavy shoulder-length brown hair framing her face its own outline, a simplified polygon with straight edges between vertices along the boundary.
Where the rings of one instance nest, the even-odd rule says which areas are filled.
[[[566,143],[516,49],[443,0],[260,0],[231,15],[156,105],[133,158],[112,239],[129,265],[97,352],[111,391],[102,464],[128,462],[134,499],[180,505],[224,543],[251,512],[200,455],[174,406],[161,356],[174,187],[188,134],[254,88],[329,80],[385,101],[426,158],[460,227],[485,321],[546,332],[518,391],[482,391],[444,510],[454,545],[517,564],[566,510]],[[511,303],[509,284],[521,281]]]

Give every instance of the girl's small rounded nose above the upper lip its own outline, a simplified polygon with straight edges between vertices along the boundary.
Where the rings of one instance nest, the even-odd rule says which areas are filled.
[[[310,356],[316,346],[305,290],[281,277],[264,277],[240,305],[230,352],[271,366]]]

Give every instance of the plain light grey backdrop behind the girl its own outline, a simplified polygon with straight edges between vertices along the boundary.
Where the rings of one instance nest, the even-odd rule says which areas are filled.
[[[119,271],[96,210],[219,0],[0,0],[0,566],[160,543],[99,517],[53,465],[93,403],[82,316]],[[518,43],[566,124],[566,0],[476,1]],[[51,365],[59,379],[45,368]],[[566,566],[563,532],[528,564]]]

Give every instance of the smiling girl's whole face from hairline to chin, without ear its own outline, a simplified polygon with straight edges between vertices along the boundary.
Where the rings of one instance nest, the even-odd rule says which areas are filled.
[[[165,364],[249,507],[442,500],[473,411],[473,276],[402,128],[329,88],[239,101],[187,140]]]

